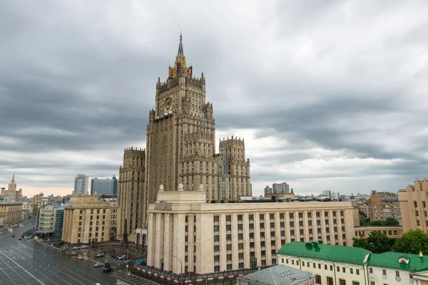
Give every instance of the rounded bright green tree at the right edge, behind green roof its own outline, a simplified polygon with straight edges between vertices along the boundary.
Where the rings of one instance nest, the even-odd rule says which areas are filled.
[[[428,254],[428,234],[420,229],[410,229],[399,239],[395,241],[392,249],[395,252],[404,252],[410,254]]]

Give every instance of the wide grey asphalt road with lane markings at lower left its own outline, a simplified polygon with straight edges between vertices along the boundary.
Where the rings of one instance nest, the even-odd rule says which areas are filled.
[[[116,279],[102,273],[101,268],[94,269],[85,261],[67,257],[60,250],[34,239],[19,241],[22,232],[31,227],[26,222],[25,227],[12,227],[12,233],[0,230],[0,285],[115,284]]]

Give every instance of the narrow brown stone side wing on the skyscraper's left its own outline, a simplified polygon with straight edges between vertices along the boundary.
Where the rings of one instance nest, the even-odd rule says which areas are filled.
[[[146,191],[145,191],[145,164],[146,152],[137,148],[127,148],[123,153],[123,166],[119,169],[118,204],[120,214],[119,236],[122,239],[125,231],[135,233],[138,227],[143,227],[146,220]],[[130,239],[131,241],[133,238]]]

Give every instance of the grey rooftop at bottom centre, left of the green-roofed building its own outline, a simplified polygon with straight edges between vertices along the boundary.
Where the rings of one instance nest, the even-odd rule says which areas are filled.
[[[250,280],[258,284],[300,284],[303,280],[312,277],[305,271],[292,268],[283,264],[275,265],[267,269],[255,271],[252,274],[240,277],[240,279]]]

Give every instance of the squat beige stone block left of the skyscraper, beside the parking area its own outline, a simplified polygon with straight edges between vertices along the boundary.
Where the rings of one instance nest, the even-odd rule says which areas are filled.
[[[118,205],[97,196],[72,195],[64,205],[62,239],[68,244],[116,240]]]

